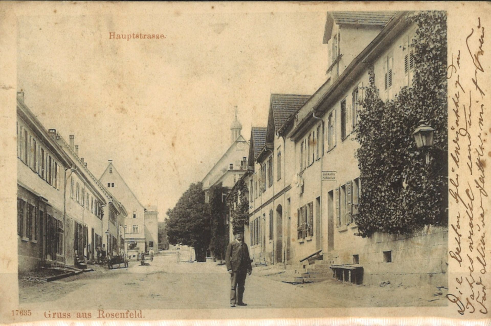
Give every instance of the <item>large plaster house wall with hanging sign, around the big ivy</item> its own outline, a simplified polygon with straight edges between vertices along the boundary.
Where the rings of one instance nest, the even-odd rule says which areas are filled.
[[[427,226],[408,235],[377,232],[362,238],[355,235],[357,226],[352,218],[357,213],[363,187],[355,158],[359,148],[355,140],[358,112],[363,109],[359,100],[363,97],[363,85],[369,83],[370,67],[382,100],[392,100],[402,87],[410,85],[413,67],[408,44],[415,26],[405,19],[406,14],[400,12],[387,19],[385,13],[338,13],[333,14],[333,23],[328,19],[325,41],[329,48],[335,48],[336,42],[341,50],[348,47],[339,43],[339,35],[344,35],[346,25],[360,25],[355,22],[370,19],[379,21],[383,29],[368,46],[355,52],[357,55],[347,66],[340,66],[339,76],[333,77],[331,72],[332,81],[307,101],[300,110],[298,124],[289,134],[299,158],[296,167],[300,191],[294,200],[297,227],[308,226],[314,216],[314,231],[310,232],[314,241],[308,243],[310,235],[303,237],[299,232],[294,261],[300,262],[303,256],[322,250],[324,260],[330,264],[362,266],[366,283],[393,279],[446,284],[446,227]],[[337,21],[336,17],[340,16],[343,20]],[[359,31],[363,29],[358,27]],[[371,35],[372,27],[366,34],[353,34],[350,39],[359,44]],[[322,125],[325,134],[314,137]],[[320,156],[318,146],[311,145],[312,138],[322,140],[324,150]],[[320,223],[315,222],[318,217]],[[315,239],[318,235],[321,239]]]

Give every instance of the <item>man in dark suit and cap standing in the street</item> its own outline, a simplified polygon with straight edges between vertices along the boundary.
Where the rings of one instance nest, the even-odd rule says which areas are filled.
[[[246,276],[251,275],[252,266],[250,264],[249,249],[244,243],[244,231],[237,230],[235,232],[235,241],[227,246],[225,253],[225,263],[230,274],[231,291],[230,291],[230,306],[247,305],[242,301],[244,296],[244,284]]]

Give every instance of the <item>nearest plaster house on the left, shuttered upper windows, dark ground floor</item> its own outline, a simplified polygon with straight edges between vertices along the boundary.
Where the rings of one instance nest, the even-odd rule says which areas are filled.
[[[19,272],[64,265],[65,176],[73,167],[17,94],[17,243]]]

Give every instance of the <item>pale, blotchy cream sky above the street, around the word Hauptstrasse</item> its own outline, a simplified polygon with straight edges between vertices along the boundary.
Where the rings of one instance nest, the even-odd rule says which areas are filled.
[[[249,140],[272,93],[313,94],[326,79],[325,6],[69,4],[19,17],[17,88],[46,128],[75,135],[95,176],[111,159],[159,220],[230,146],[235,106]]]

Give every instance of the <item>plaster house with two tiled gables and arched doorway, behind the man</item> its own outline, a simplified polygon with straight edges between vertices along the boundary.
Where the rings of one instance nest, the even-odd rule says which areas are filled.
[[[310,98],[309,95],[272,94],[266,129],[251,132],[249,164],[249,228],[251,255],[255,262],[286,263],[290,254],[291,174],[294,144],[285,137],[291,118]],[[264,137],[264,138],[263,138]],[[264,140],[263,140],[264,139]],[[260,147],[262,145],[262,147]],[[260,147],[260,148],[258,148]],[[286,242],[286,243],[285,243]],[[283,250],[285,249],[285,250]]]

